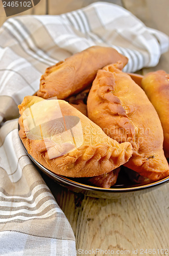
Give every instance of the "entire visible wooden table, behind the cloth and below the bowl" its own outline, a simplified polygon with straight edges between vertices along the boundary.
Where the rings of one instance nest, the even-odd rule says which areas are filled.
[[[33,9],[22,14],[60,14],[93,2],[96,1],[49,0],[46,8],[46,1],[41,0]],[[109,2],[123,5],[147,26],[169,35],[168,0]],[[2,2],[0,8],[1,25],[6,19]],[[157,67],[143,69],[139,73],[158,69],[169,73],[169,53],[161,56]],[[91,255],[111,255],[108,250],[114,250],[116,255],[169,254],[169,184],[147,194],[113,200],[84,197],[67,191],[47,177],[45,181],[74,230],[77,250],[81,250],[78,255],[89,255],[92,249]],[[102,252],[96,249],[102,249]]]

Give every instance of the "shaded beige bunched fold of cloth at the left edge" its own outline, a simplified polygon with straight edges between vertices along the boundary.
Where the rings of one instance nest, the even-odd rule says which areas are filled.
[[[0,95],[0,112],[6,120],[14,119],[19,116],[19,111],[15,101],[10,96]]]

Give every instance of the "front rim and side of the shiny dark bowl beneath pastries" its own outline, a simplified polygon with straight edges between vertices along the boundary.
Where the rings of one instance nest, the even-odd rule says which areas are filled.
[[[26,148],[25,148],[25,151],[28,154]],[[28,156],[44,174],[54,179],[58,184],[66,187],[71,191],[74,191],[76,193],[82,193],[89,197],[108,198],[108,199],[118,199],[124,196],[130,197],[133,195],[146,193],[155,188],[158,188],[160,185],[163,185],[169,182],[169,177],[167,177],[160,181],[156,181],[149,184],[146,184],[146,183],[134,184],[128,179],[127,176],[124,175],[122,171],[122,175],[124,175],[125,177],[122,178],[122,175],[119,175],[116,184],[111,188],[95,187],[95,186],[88,185],[86,178],[69,178],[69,177],[64,177],[64,176],[55,174],[51,170],[45,168],[43,165],[37,162],[31,155],[28,154]]]

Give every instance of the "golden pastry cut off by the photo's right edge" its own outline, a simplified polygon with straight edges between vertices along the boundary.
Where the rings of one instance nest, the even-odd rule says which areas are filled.
[[[164,132],[164,153],[169,158],[169,74],[163,70],[143,77],[141,87],[154,105]]]

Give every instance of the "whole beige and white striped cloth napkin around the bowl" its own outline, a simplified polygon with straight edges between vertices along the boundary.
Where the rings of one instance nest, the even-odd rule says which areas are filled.
[[[76,255],[70,224],[23,150],[17,105],[47,67],[93,45],[112,46],[129,58],[124,71],[135,72],[157,65],[168,37],[105,2],[12,17],[0,28],[0,255]]]

